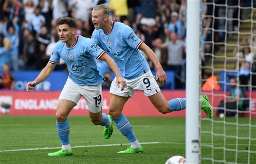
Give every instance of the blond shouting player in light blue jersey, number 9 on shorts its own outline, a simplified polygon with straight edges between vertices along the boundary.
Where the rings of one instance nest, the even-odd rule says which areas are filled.
[[[119,131],[126,136],[131,144],[128,149],[118,153],[142,153],[143,148],[134,135],[130,122],[122,113],[126,101],[132,97],[134,91],[143,91],[144,95],[149,97],[151,103],[161,113],[185,109],[186,99],[165,100],[156,80],[159,80],[159,83],[164,85],[167,78],[156,55],[149,46],[135,35],[129,26],[123,23],[113,22],[110,18],[110,10],[106,5],[101,4],[93,8],[92,22],[95,26],[92,39],[116,61],[120,73],[127,84],[127,87],[123,91],[120,90],[115,81],[116,77],[110,87],[109,114],[112,116],[114,122],[116,122]],[[145,57],[138,50],[142,50],[153,61],[157,70],[156,79],[152,75]],[[209,118],[213,118],[213,109],[207,96],[201,95],[201,100],[202,110],[205,111]],[[104,138],[109,139],[111,135],[112,127],[105,127]]]

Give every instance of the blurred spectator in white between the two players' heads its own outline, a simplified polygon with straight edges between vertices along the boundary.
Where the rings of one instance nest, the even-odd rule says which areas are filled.
[[[91,9],[94,7],[93,0],[71,0],[69,1],[69,10],[71,16],[80,19],[83,22],[91,21]]]

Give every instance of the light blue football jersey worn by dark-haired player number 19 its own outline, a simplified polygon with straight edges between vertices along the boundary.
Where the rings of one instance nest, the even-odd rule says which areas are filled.
[[[68,47],[66,43],[56,43],[49,60],[52,64],[59,64],[62,58],[68,66],[69,78],[79,86],[97,86],[103,82],[96,65],[96,59],[104,54],[104,50],[90,38],[76,36],[74,45]]]

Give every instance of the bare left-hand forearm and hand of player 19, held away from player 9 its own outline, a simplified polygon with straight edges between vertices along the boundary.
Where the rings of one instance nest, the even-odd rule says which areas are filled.
[[[55,68],[55,64],[49,63],[44,67],[44,69],[38,74],[37,78],[33,81],[29,81],[28,84],[26,84],[26,88],[28,91],[33,90],[37,84],[44,81],[46,78],[48,78],[52,72],[52,70]]]

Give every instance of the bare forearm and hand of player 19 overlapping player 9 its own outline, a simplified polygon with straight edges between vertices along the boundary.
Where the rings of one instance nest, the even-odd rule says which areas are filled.
[[[117,64],[114,62],[114,60],[106,53],[104,53],[101,57],[100,60],[106,61],[106,63],[109,65],[110,69],[114,72],[114,74],[116,74],[117,77],[117,86],[119,87],[119,83],[121,84],[121,91],[124,90],[124,87],[126,87],[126,82],[125,80],[122,78]]]

